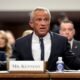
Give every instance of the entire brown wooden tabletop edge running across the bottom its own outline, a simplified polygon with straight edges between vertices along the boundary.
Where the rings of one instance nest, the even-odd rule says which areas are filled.
[[[0,80],[80,80],[78,72],[63,73],[34,73],[34,72],[11,72],[0,73]]]

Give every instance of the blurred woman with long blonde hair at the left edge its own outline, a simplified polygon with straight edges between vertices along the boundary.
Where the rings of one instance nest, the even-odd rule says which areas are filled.
[[[12,48],[8,43],[6,32],[0,30],[0,70],[7,70],[7,61],[12,53]]]

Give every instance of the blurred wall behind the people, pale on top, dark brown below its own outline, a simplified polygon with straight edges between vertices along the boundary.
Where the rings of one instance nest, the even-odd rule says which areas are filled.
[[[0,0],[0,30],[10,30],[15,38],[30,29],[29,15],[36,7],[50,10],[51,30],[58,24],[59,15],[66,15],[73,21],[76,35],[80,40],[80,0]]]

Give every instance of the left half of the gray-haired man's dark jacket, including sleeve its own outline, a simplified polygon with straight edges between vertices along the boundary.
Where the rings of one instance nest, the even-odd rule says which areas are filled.
[[[31,38],[32,34],[16,40],[13,48],[13,58],[16,58],[16,60],[33,60]]]

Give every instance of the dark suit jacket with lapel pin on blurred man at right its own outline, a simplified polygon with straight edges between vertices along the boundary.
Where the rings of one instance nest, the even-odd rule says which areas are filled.
[[[73,52],[73,54],[80,57],[80,41],[73,40],[72,52]]]

